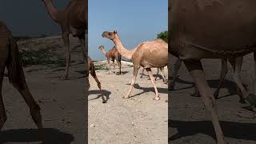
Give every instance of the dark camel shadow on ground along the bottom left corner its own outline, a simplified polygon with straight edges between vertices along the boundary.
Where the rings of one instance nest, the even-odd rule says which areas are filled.
[[[60,130],[45,128],[45,141],[47,144],[70,144],[74,141],[72,134]],[[38,129],[5,130],[0,132],[0,143],[6,142],[41,142]]]

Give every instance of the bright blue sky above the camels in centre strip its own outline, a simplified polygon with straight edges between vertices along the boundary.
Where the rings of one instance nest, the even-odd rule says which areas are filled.
[[[110,50],[114,43],[103,31],[118,30],[122,44],[132,49],[168,29],[167,0],[89,0],[88,49],[93,60],[105,60],[98,46]]]

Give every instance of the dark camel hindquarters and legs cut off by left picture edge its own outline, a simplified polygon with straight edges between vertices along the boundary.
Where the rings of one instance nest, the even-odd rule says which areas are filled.
[[[24,98],[26,104],[30,108],[30,115],[32,116],[35,125],[38,127],[40,138],[43,140],[42,129],[42,115],[40,114],[40,107],[35,102],[28,86],[26,85],[26,78],[22,70],[22,63],[19,57],[18,46],[15,42],[10,30],[4,22],[0,21],[0,130],[6,122],[6,110],[2,99],[2,81],[5,69],[8,70],[8,78],[10,83],[18,90]]]

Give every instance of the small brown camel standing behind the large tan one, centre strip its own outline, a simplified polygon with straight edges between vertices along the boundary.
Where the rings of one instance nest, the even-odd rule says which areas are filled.
[[[109,64],[109,74],[110,74],[110,60],[113,62],[114,66],[114,59],[118,62],[118,70],[119,72],[117,74],[121,74],[121,54],[118,53],[118,50],[115,46],[113,46],[108,52],[106,52],[104,46],[98,46],[99,50],[102,50],[103,55],[105,55],[106,60]],[[115,66],[114,66],[115,70]]]

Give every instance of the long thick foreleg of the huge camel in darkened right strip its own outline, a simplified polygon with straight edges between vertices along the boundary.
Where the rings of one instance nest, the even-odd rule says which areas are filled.
[[[194,82],[198,87],[202,101],[206,106],[206,110],[210,112],[211,122],[214,125],[214,130],[217,137],[217,143],[224,144],[225,141],[222,128],[218,122],[215,98],[211,93],[210,86],[206,82],[205,74],[202,70],[202,63],[200,61],[187,61],[184,63],[187,70],[190,71],[191,76],[194,78]]]

